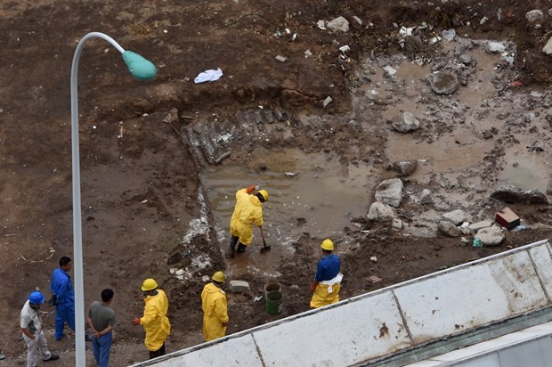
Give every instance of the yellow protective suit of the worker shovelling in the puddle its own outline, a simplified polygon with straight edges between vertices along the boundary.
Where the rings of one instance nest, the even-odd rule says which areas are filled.
[[[263,207],[261,200],[255,195],[249,195],[248,189],[236,192],[236,207],[231,216],[230,232],[239,237],[239,242],[248,246],[253,241],[253,227],[263,225]]]

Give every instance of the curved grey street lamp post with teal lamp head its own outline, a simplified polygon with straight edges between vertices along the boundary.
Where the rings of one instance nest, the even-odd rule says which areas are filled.
[[[140,80],[150,80],[157,75],[157,69],[151,61],[144,59],[138,53],[125,51],[111,37],[91,32],[83,37],[77,45],[71,65],[71,157],[73,167],[73,265],[75,271],[75,365],[85,366],[85,288],[83,280],[83,235],[80,201],[80,159],[78,152],[78,97],[77,74],[78,61],[85,43],[90,38],[102,38],[117,48],[131,75]]]

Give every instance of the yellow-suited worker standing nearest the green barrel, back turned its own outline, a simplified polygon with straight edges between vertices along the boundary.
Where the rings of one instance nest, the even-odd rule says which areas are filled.
[[[201,292],[201,308],[203,309],[203,336],[206,341],[223,338],[228,325],[228,306],[226,293],[222,290],[224,273],[216,272]]]

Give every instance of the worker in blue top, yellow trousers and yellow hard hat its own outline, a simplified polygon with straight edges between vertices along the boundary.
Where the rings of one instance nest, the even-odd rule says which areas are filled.
[[[334,242],[328,239],[322,241],[321,250],[323,257],[316,266],[314,282],[311,285],[311,292],[313,293],[311,307],[313,308],[339,302],[339,290],[343,279],[343,274],[339,273],[341,259],[332,253]]]

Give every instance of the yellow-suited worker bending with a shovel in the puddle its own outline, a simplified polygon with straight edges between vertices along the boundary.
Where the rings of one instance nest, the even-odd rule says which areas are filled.
[[[252,184],[247,189],[236,192],[236,207],[230,221],[230,257],[234,256],[236,243],[239,241],[238,253],[244,252],[253,241],[253,224],[263,227],[262,203],[268,200],[268,192],[260,190],[250,195],[256,189]]]

